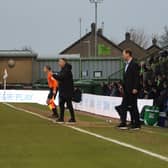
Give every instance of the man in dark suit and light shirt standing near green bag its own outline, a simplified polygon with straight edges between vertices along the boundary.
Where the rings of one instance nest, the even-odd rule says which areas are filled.
[[[124,96],[122,104],[116,107],[119,112],[121,124],[118,126],[120,129],[128,129],[127,127],[127,111],[131,114],[130,129],[140,129],[140,118],[137,107],[137,98],[140,87],[139,66],[134,61],[132,51],[125,49],[123,51],[123,59],[126,62],[124,76],[123,76],[123,89]]]

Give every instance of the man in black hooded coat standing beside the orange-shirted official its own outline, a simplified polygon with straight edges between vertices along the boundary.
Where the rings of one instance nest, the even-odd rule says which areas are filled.
[[[53,75],[53,77],[59,81],[60,118],[57,120],[57,122],[64,122],[64,111],[66,103],[71,115],[69,122],[74,123],[76,120],[72,105],[72,97],[74,92],[72,66],[65,58],[59,59],[58,64],[61,68],[61,71],[58,73],[58,75]]]

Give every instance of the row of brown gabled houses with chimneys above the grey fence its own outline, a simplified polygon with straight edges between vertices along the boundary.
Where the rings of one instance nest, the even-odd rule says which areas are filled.
[[[161,48],[157,45],[157,40],[153,39],[152,46],[145,49],[133,40],[131,40],[131,34],[126,32],[125,40],[119,44],[115,44],[107,37],[103,35],[102,29],[98,29],[98,45],[97,54],[98,57],[120,57],[122,51],[125,48],[130,48],[133,51],[133,55],[137,60],[143,60],[161,51]],[[91,31],[85,34],[81,39],[75,41],[66,49],[60,52],[60,55],[72,55],[79,54],[81,57],[94,57],[95,55],[95,23],[91,24]]]

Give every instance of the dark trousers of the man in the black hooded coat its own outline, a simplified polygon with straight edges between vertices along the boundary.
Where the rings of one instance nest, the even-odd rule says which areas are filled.
[[[67,104],[67,108],[69,109],[71,119],[75,120],[75,113],[72,105],[72,98],[65,98],[60,96],[59,98],[59,106],[60,106],[60,119],[64,120],[64,112],[65,112],[65,103]]]

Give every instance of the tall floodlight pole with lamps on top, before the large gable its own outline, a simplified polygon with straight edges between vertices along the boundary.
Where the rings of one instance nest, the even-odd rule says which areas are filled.
[[[97,16],[98,16],[98,4],[103,2],[103,0],[90,0],[90,3],[95,4],[95,57],[97,57],[97,43],[98,43],[98,37],[97,37]]]

